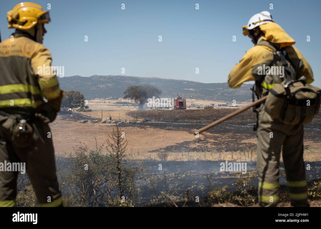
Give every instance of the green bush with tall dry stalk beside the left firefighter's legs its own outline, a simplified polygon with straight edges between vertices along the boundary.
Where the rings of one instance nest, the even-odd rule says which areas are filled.
[[[138,168],[126,166],[122,159],[126,149],[125,138],[117,127],[108,145],[88,150],[81,144],[74,150],[72,165],[63,180],[69,190],[68,197],[75,197],[76,204],[84,207],[132,206],[139,192],[136,186]],[[125,202],[122,201],[125,197]]]

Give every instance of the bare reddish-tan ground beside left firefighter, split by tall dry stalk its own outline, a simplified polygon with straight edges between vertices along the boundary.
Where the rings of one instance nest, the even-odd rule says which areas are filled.
[[[55,152],[57,155],[65,155],[64,152],[73,151],[73,147],[79,142],[85,143],[89,149],[96,148],[97,144],[106,143],[108,135],[112,131],[112,126],[115,124],[87,124],[74,121],[61,120],[58,117],[58,124],[50,124],[52,138],[54,142]],[[109,126],[109,127],[108,127]],[[133,151],[150,151],[157,150],[169,145],[175,145],[181,142],[184,138],[187,141],[192,141],[193,134],[185,131],[164,130],[146,127],[146,129],[125,127],[121,128],[125,132],[125,137],[128,142],[127,149]],[[180,136],[180,138],[174,136]]]

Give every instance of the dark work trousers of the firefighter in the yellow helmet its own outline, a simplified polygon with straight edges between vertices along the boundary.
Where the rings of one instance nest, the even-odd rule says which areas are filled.
[[[56,164],[51,132],[48,124],[39,120],[28,122],[33,128],[28,147],[20,148],[12,142],[12,129],[4,128],[8,117],[0,116],[0,163],[25,163],[25,169],[43,207],[62,205],[56,176]],[[4,165],[6,166],[6,165]],[[0,207],[15,206],[19,171],[0,171]]]

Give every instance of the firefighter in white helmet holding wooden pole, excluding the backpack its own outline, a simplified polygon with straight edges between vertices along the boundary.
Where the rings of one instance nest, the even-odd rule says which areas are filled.
[[[255,14],[246,26],[243,34],[249,36],[254,43],[239,64],[233,67],[228,77],[228,85],[237,88],[246,81],[255,81],[258,97],[268,94],[276,84],[285,79],[279,71],[266,71],[262,74],[259,69],[266,66],[282,67],[282,61],[277,58],[281,50],[286,57],[287,66],[293,70],[292,79],[306,77],[306,83],[313,81],[310,65],[293,46],[295,41],[274,22],[267,11]],[[266,68],[268,69],[268,68]],[[274,68],[275,69],[275,68]],[[253,95],[254,98],[254,95]],[[280,200],[279,162],[281,147],[286,172],[287,186],[290,192],[291,205],[308,207],[307,181],[303,162],[303,125],[285,125],[279,120],[273,120],[265,112],[265,104],[260,105],[257,113],[257,173],[258,200],[260,206],[276,206]]]

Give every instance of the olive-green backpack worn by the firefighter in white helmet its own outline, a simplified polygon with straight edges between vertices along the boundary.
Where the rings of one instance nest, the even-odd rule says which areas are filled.
[[[280,120],[286,125],[310,123],[320,108],[321,89],[307,84],[305,76],[293,80],[291,73],[295,75],[295,72],[286,62],[285,50],[278,50],[276,54],[274,58],[281,58],[286,78],[269,90],[265,111],[272,119]]]

